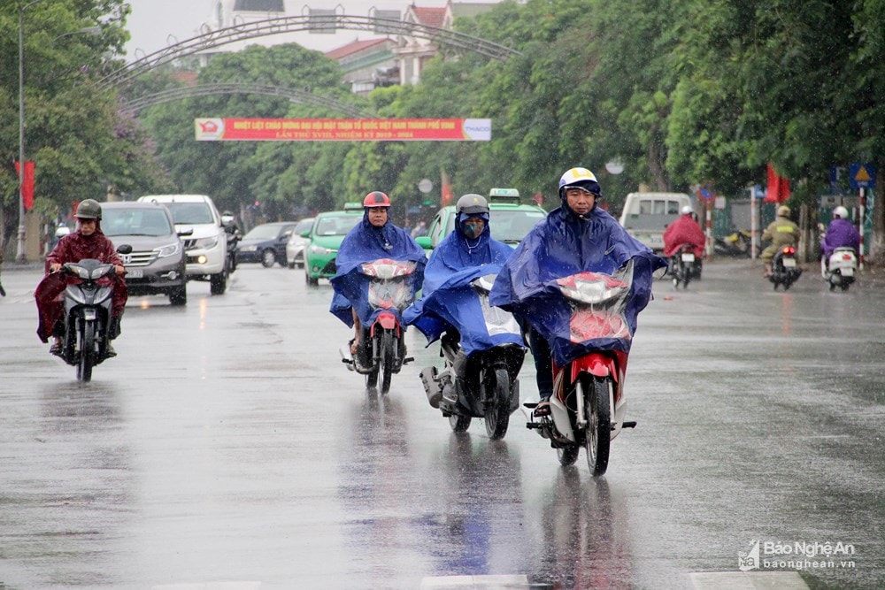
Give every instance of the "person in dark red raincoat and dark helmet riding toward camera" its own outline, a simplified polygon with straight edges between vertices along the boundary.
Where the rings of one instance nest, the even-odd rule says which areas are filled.
[[[49,341],[53,336],[50,353],[58,354],[62,349],[61,338],[65,333],[64,315],[64,292],[65,287],[72,281],[79,281],[70,275],[58,272],[62,264],[67,262],[80,262],[84,258],[95,258],[104,264],[116,266],[117,274],[112,277],[113,295],[111,306],[111,326],[108,327],[108,336],[111,340],[119,336],[119,319],[123,315],[123,308],[128,298],[126,281],[123,274],[126,268],[120,260],[117,250],[102,232],[102,206],[92,199],[86,199],[80,203],[77,212],[77,231],[65,235],[58,241],[46,257],[46,276],[37,285],[35,299],[39,315],[37,335],[43,342]],[[108,353],[114,355],[110,343]]]

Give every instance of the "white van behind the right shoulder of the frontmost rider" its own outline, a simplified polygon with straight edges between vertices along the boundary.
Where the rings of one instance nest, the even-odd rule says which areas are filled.
[[[664,249],[664,229],[679,218],[691,197],[685,193],[630,193],[620,214],[627,233],[656,252]]]

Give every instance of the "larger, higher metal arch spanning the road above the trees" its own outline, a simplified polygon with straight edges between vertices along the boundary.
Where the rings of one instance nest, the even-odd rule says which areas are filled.
[[[155,51],[148,56],[142,57],[119,70],[109,73],[98,81],[99,87],[122,87],[129,81],[148,72],[159,65],[167,64],[174,59],[187,57],[200,51],[209,50],[227,43],[244,41],[256,37],[264,37],[272,34],[296,33],[310,31],[312,29],[327,30],[330,27],[357,30],[357,31],[383,31],[383,34],[403,34],[420,39],[427,39],[445,47],[456,50],[467,50],[492,59],[504,60],[512,56],[521,55],[504,45],[486,41],[469,34],[458,33],[440,27],[430,27],[418,23],[407,23],[396,19],[380,19],[375,17],[358,17],[347,14],[335,14],[322,18],[302,15],[296,17],[281,17],[279,19],[264,19],[254,22],[242,23],[232,27],[219,28],[216,31],[204,33],[170,45],[169,47]]]

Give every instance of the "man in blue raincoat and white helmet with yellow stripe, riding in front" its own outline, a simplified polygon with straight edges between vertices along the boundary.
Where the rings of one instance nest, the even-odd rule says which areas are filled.
[[[649,302],[652,272],[666,265],[663,258],[627,234],[615,218],[596,206],[601,198],[602,188],[593,172],[586,168],[566,171],[559,179],[561,206],[550,211],[520,242],[489,295],[490,304],[512,311],[524,323],[529,323],[529,316],[543,318],[528,331],[541,398],[535,408],[536,416],[550,415],[552,360],[565,366],[573,360],[569,355],[574,354],[570,342],[554,338],[553,331],[548,329],[562,321],[552,317],[558,313],[555,307],[544,302],[545,294],[553,288],[548,283],[585,271],[612,274],[633,259],[633,293],[626,310],[633,333],[636,316]],[[629,345],[630,341],[612,343],[625,351]]]

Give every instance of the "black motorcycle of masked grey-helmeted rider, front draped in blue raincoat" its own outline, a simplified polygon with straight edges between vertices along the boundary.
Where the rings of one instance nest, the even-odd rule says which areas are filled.
[[[493,266],[500,268],[487,264],[456,273],[422,302],[448,326],[455,326],[458,337],[443,336],[443,370],[426,367],[420,378],[430,405],[449,418],[453,432],[466,432],[473,418],[484,418],[489,439],[497,440],[504,438],[510,415],[519,409],[517,377],[526,349],[512,313],[489,306],[497,276],[497,271],[489,272]],[[420,321],[418,326],[425,332]],[[456,378],[458,364],[464,365],[461,379]]]

